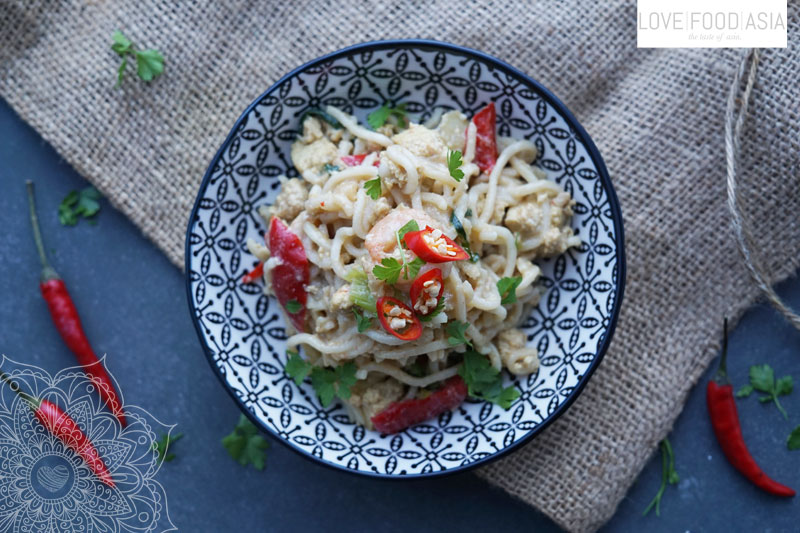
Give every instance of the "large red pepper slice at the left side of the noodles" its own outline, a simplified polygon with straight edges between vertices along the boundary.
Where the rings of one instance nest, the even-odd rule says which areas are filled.
[[[306,286],[311,274],[303,243],[278,217],[270,220],[268,237],[270,254],[278,259],[278,264],[272,269],[272,290],[297,331],[305,331]],[[296,313],[286,309],[291,300],[302,306]]]

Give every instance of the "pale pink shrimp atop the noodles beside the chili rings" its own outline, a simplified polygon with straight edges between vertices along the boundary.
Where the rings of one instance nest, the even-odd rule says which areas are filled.
[[[367,232],[367,237],[364,239],[364,246],[369,252],[372,264],[380,264],[381,260],[387,257],[400,259],[400,250],[397,248],[397,230],[402,228],[409,220],[416,220],[419,229],[426,226],[437,229],[439,223],[436,222],[430,215],[418,209],[412,209],[404,205],[395,207],[389,214],[380,219],[372,226],[372,229]],[[406,261],[411,262],[416,259],[416,254],[411,250],[403,250],[405,253]],[[450,272],[450,263],[442,263],[438,265],[424,265],[419,274],[424,274],[431,268],[439,268],[442,274],[447,277]],[[372,269],[370,269],[372,270]],[[413,280],[403,280],[402,276],[398,280],[398,285],[406,285]]]

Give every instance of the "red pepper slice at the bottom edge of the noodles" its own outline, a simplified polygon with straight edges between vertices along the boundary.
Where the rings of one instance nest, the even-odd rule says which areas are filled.
[[[453,376],[430,396],[392,402],[370,420],[381,433],[397,433],[455,409],[466,397],[467,384],[461,376]]]

